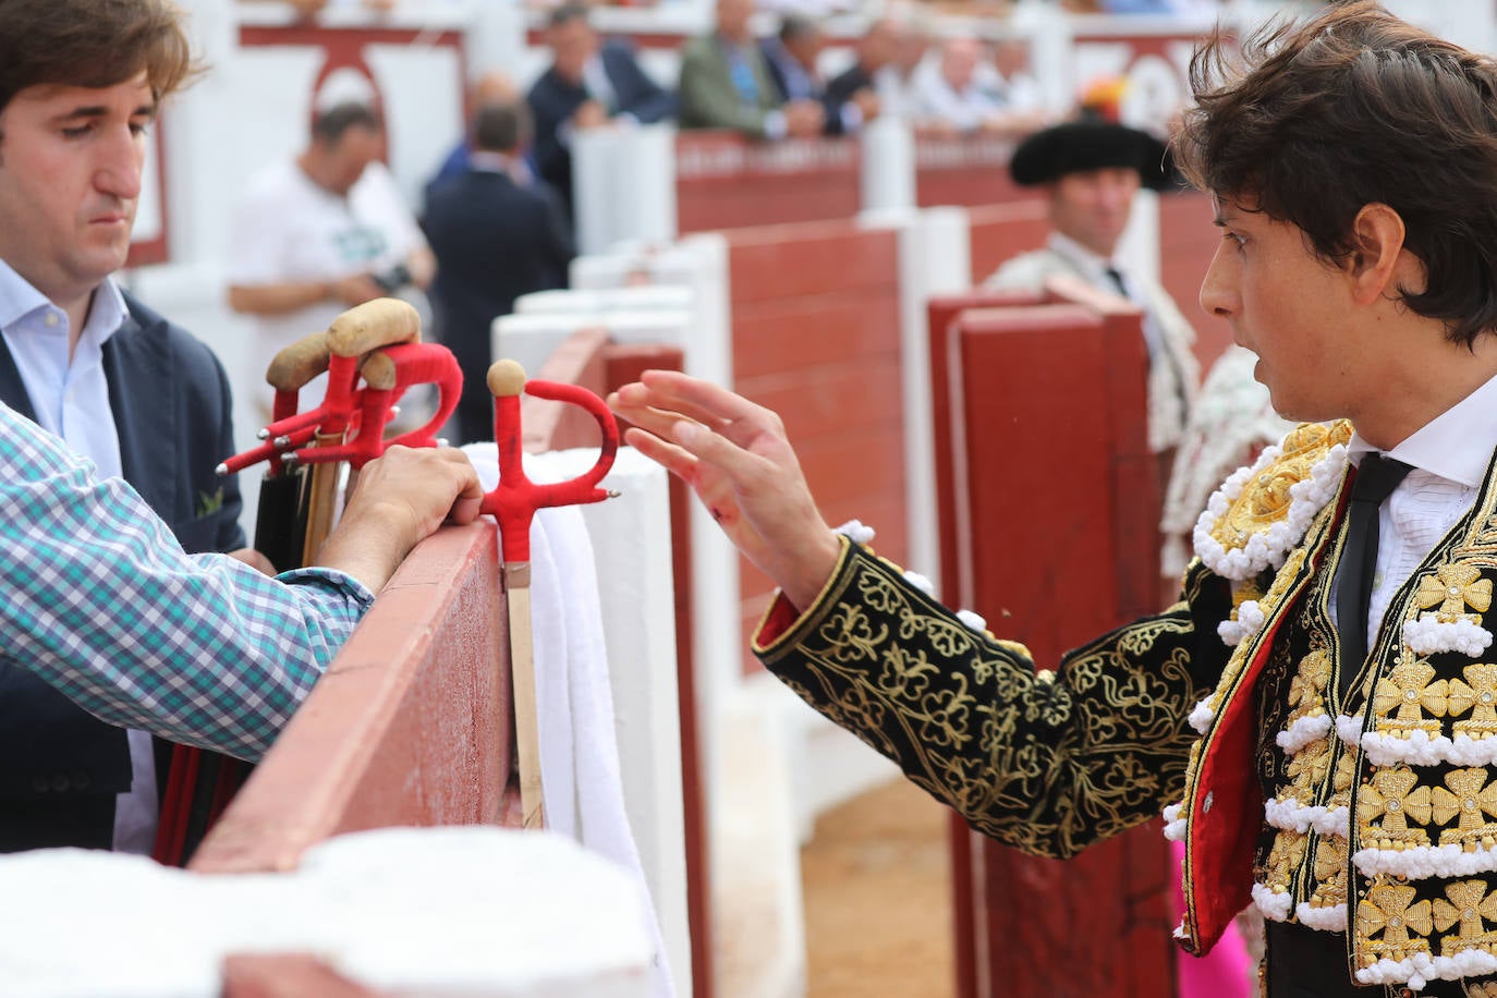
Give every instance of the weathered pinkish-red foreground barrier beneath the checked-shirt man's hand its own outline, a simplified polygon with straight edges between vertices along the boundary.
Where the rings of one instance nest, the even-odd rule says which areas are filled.
[[[499,820],[510,769],[496,527],[446,527],[380,591],[190,869],[292,869],[343,832]]]

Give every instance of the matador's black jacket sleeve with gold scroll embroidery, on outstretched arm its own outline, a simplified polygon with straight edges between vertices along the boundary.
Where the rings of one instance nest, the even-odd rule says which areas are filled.
[[[1063,857],[1180,799],[1229,610],[1226,582],[1195,563],[1181,603],[1036,672],[850,545],[816,606],[756,654],[978,830]]]

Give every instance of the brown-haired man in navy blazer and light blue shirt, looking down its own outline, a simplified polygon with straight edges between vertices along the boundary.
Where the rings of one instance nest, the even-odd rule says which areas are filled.
[[[214,473],[235,449],[223,368],[109,277],[129,253],[145,130],[190,72],[187,37],[165,0],[82,7],[6,6],[0,64],[19,69],[0,85],[0,399],[123,476],[189,552],[241,548],[238,482]],[[88,85],[61,82],[81,69]],[[157,754],[0,666],[0,851],[151,851]]]

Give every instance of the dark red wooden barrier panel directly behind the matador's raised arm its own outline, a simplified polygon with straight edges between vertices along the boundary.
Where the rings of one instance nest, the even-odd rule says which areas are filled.
[[[943,591],[1054,666],[1154,594],[1159,498],[1138,313],[1051,304],[933,319],[937,367],[954,359],[934,398],[948,428],[937,453],[951,452],[942,536],[958,552]],[[963,998],[1172,994],[1171,874],[1156,827],[1058,862],[958,820],[952,847]]]

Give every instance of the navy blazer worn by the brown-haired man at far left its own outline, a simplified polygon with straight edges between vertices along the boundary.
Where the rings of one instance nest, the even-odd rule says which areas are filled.
[[[205,344],[129,295],[126,305],[129,317],[103,347],[123,477],[187,552],[243,548],[238,479],[214,473],[234,453],[223,365]],[[4,340],[0,399],[36,419]],[[163,747],[157,742],[159,760]],[[157,774],[165,775],[163,765]],[[25,669],[0,664],[0,851],[108,848],[114,795],[130,787],[130,775],[124,729],[87,714]]]

